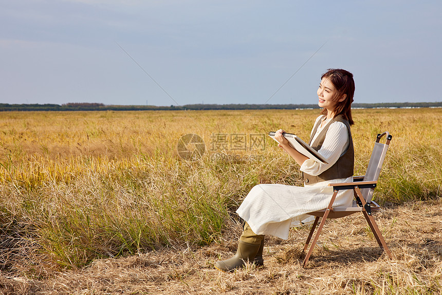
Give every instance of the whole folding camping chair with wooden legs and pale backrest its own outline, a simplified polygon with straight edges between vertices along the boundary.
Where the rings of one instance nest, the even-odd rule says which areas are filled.
[[[380,143],[380,139],[382,136],[386,135],[385,144]],[[328,186],[333,186],[334,194],[331,196],[330,203],[328,207],[323,210],[315,211],[307,213],[309,215],[316,216],[315,222],[311,227],[310,233],[307,237],[307,241],[304,245],[304,250],[307,250],[308,243],[310,242],[311,237],[315,231],[316,226],[318,225],[319,218],[322,217],[321,223],[319,224],[319,228],[316,232],[315,238],[311,242],[310,248],[305,256],[303,267],[307,265],[308,259],[313,251],[313,248],[318,241],[319,234],[325,224],[325,220],[327,218],[341,218],[345,217],[357,212],[362,212],[364,214],[367,223],[369,224],[376,241],[379,244],[379,247],[383,248],[384,251],[392,258],[392,254],[390,249],[385,243],[384,238],[382,237],[381,232],[379,231],[378,226],[376,225],[375,219],[372,216],[372,212],[379,211],[380,207],[374,201],[372,201],[372,196],[374,189],[376,188],[377,180],[379,178],[379,174],[382,168],[382,163],[385,159],[386,151],[388,150],[390,141],[392,136],[388,132],[384,132],[382,134],[378,134],[376,137],[375,146],[372,152],[372,156],[370,158],[369,167],[367,167],[367,171],[364,176],[354,176],[354,182],[343,182],[343,183],[330,183]],[[335,201],[336,195],[340,190],[353,190],[355,200],[353,201],[353,206],[349,208],[333,208],[333,202]]]

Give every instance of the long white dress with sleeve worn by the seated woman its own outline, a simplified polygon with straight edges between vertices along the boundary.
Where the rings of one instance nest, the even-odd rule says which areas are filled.
[[[316,119],[321,120],[322,116]],[[325,126],[326,124],[324,124]],[[318,127],[318,136],[322,128]],[[349,143],[347,127],[342,122],[333,122],[328,127],[324,142],[318,151],[328,164],[318,163],[307,159],[300,170],[310,175],[319,175],[330,168],[346,151]],[[256,234],[271,234],[283,239],[288,238],[290,227],[310,224],[315,216],[308,215],[327,208],[333,187],[328,183],[352,182],[353,176],[348,178],[320,181],[304,187],[286,186],[278,184],[254,186],[244,199],[236,213],[250,225]],[[336,196],[334,207],[351,207],[353,191],[342,190]]]

